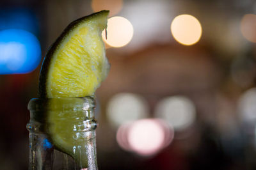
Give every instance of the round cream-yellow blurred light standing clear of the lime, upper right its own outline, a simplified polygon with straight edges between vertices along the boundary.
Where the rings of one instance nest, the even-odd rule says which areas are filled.
[[[195,17],[186,14],[173,19],[171,31],[175,40],[183,45],[193,45],[200,40],[202,35],[200,22]]]

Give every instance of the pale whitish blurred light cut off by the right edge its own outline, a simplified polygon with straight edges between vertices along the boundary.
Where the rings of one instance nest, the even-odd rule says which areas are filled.
[[[239,113],[245,122],[256,121],[256,88],[245,91],[239,99]]]

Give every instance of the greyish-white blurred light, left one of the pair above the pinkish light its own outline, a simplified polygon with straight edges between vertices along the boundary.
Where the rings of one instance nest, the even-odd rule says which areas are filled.
[[[147,102],[132,93],[119,93],[111,98],[107,107],[108,120],[116,127],[129,121],[146,118]]]

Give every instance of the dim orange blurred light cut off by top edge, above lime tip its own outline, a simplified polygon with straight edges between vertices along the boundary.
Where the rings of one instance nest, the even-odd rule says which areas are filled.
[[[116,15],[122,9],[122,0],[92,0],[92,9],[94,12],[109,10],[109,16]]]

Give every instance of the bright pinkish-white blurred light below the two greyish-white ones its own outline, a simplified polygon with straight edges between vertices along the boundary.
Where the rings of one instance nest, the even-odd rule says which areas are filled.
[[[143,119],[126,123],[118,128],[116,141],[127,151],[141,156],[150,156],[168,146],[173,140],[174,130],[158,119]]]

